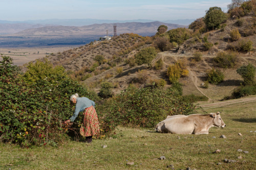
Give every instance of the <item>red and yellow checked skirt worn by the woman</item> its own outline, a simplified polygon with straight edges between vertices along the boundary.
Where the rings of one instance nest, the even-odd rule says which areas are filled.
[[[96,110],[93,106],[88,107],[83,112],[83,125],[80,128],[82,136],[93,136],[99,132],[99,121]]]

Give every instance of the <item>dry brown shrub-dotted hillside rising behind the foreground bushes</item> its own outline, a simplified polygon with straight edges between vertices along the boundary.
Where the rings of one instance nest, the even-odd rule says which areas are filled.
[[[115,94],[126,89],[129,84],[144,87],[160,79],[167,83],[165,87],[169,87],[171,83],[166,76],[167,67],[182,60],[189,72],[188,77],[179,80],[182,83],[183,94],[205,95],[210,101],[218,101],[230,95],[232,90],[243,82],[242,77],[237,74],[237,68],[248,63],[256,66],[254,17],[247,15],[240,19],[243,19],[243,25],[238,25],[238,19],[229,18],[220,29],[196,34],[172,50],[159,51],[152,65],[154,66],[159,59],[162,59],[163,68],[160,70],[154,67],[148,68],[147,65],[127,64],[127,60],[133,58],[141,48],[154,45],[153,37],[142,37],[133,33],[121,34],[108,41],[94,41],[63,53],[50,55],[48,59],[54,65],[65,67],[71,77],[96,92],[99,92],[101,82],[111,82],[114,85]],[[230,38],[230,31],[234,29],[238,29],[241,33],[241,39],[238,41],[232,41]],[[190,32],[193,31],[190,30]],[[204,47],[206,41],[213,45],[209,50]],[[213,59],[219,52],[229,53],[232,47],[235,50],[234,46],[243,41],[251,41],[254,51],[238,51],[238,63],[234,67],[221,68],[214,62]],[[195,52],[202,54],[201,61],[194,60]],[[101,65],[95,61],[97,55],[104,57]],[[212,68],[218,68],[223,72],[224,81],[218,85],[209,84],[208,88],[203,88],[201,84],[206,80],[206,72]]]

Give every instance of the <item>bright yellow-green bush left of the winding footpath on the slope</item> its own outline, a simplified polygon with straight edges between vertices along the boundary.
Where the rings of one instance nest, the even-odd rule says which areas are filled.
[[[174,65],[169,65],[167,68],[167,76],[171,83],[178,82],[180,77],[188,76],[188,70],[184,62],[178,61]]]

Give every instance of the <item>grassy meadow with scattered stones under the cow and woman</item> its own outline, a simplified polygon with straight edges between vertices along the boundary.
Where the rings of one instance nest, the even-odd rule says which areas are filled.
[[[119,127],[111,138],[95,139],[92,144],[71,140],[57,147],[18,148],[1,143],[0,169],[171,169],[167,165],[175,169],[255,169],[255,110],[254,102],[206,109],[208,113],[221,111],[226,124],[223,129],[211,128],[208,135]],[[217,149],[221,152],[214,153]],[[166,159],[160,160],[161,156]],[[224,159],[237,162],[225,163]]]

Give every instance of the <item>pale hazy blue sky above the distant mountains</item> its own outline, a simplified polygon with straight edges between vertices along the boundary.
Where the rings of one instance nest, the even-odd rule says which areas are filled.
[[[227,12],[231,0],[0,0],[0,20],[196,19],[209,7]]]

